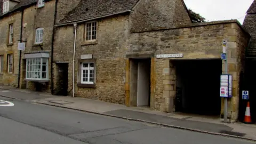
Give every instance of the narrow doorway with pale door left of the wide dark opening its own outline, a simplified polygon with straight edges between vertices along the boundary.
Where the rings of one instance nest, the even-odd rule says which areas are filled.
[[[150,63],[151,59],[131,59],[132,106],[150,107]]]

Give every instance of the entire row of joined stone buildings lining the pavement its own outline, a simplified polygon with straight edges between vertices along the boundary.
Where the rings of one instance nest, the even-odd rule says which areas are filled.
[[[8,9],[0,2],[0,83],[222,117],[227,39],[228,117],[237,120],[250,39],[238,21],[191,23],[182,0],[9,1]],[[21,54],[18,40],[26,42]]]

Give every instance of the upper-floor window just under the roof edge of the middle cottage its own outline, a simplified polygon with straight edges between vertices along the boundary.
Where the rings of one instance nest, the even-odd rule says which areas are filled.
[[[93,26],[93,24],[94,24],[94,26]],[[90,27],[90,25],[91,25],[91,27]],[[97,27],[98,27],[97,21],[91,21],[91,22],[85,23],[85,34],[84,34],[85,38],[84,39],[86,42],[96,41],[97,33],[98,33]],[[94,33],[94,34],[92,34],[92,33]]]

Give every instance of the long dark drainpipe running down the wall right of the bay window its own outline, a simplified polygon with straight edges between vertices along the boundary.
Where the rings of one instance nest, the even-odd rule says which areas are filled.
[[[57,18],[57,4],[58,0],[55,1],[55,10],[54,10],[54,20],[53,20],[53,30],[52,30],[52,47],[51,47],[51,94],[53,94],[53,46],[54,46],[54,35],[55,35],[55,22]]]

